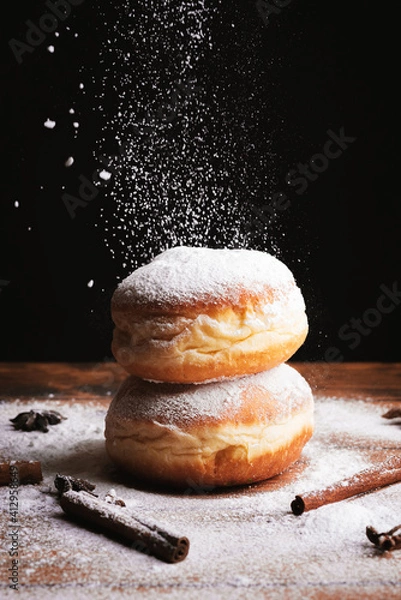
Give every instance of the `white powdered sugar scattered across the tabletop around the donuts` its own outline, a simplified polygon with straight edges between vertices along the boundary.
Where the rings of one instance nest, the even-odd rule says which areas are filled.
[[[396,598],[401,553],[379,555],[365,528],[372,525],[386,531],[399,523],[400,484],[299,517],[290,512],[290,503],[296,494],[320,489],[370,466],[361,441],[387,446],[391,454],[391,448],[399,447],[401,430],[389,426],[377,407],[366,402],[325,397],[315,403],[315,435],[291,477],[283,475],[282,485],[278,478],[271,487],[267,482],[217,493],[188,482],[181,495],[122,482],[104,449],[106,408],[32,400],[30,408],[59,410],[67,417],[43,434],[15,431],[9,422],[26,410],[26,404],[0,403],[1,459],[40,460],[44,473],[42,484],[18,490],[20,583],[22,592],[26,586],[25,597],[75,598],[85,590],[93,598],[140,594],[153,599],[164,593],[190,600],[205,594],[230,600],[250,594],[281,599],[285,593],[286,598],[296,599],[314,598],[315,586],[322,581],[327,593],[335,585],[345,593],[352,582],[364,581],[363,592],[354,590],[353,597],[380,594],[386,584],[386,598]],[[341,432],[344,438],[338,444],[336,435]],[[114,488],[127,510],[187,536],[188,557],[176,565],[164,564],[69,521],[53,486],[57,472],[88,479],[97,484],[100,495]],[[7,487],[0,488],[3,535],[8,493]],[[4,544],[7,548],[3,537]],[[8,568],[8,563],[9,556],[3,553],[1,568]],[[2,597],[13,592],[7,590],[5,578],[0,590]]]

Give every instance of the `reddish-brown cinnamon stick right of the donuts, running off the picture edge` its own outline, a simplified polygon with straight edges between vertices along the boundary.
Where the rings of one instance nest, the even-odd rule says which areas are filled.
[[[301,515],[319,506],[365,494],[399,481],[401,481],[401,456],[393,456],[375,467],[364,469],[327,488],[295,496],[295,500],[291,502],[291,509],[294,515]]]

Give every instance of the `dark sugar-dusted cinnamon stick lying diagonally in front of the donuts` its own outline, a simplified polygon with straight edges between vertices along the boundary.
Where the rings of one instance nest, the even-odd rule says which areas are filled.
[[[65,492],[60,498],[60,506],[66,514],[121,536],[133,542],[134,548],[165,562],[180,562],[188,554],[186,537],[169,533],[156,523],[134,516],[126,507],[102,501],[85,491]]]

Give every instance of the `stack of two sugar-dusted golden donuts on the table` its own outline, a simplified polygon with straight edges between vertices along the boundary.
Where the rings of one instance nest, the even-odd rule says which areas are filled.
[[[172,248],[122,281],[111,312],[113,354],[129,373],[106,417],[115,464],[188,488],[260,481],[299,458],[313,397],[285,362],[308,322],[281,261]]]

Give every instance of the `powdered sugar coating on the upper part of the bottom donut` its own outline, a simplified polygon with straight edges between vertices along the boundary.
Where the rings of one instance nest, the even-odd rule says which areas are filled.
[[[255,375],[226,379],[204,385],[153,384],[129,377],[110,405],[110,417],[154,421],[170,426],[195,421],[235,419],[244,395],[251,387],[266,391],[266,409],[255,420],[286,420],[305,404],[312,406],[312,392],[306,380],[292,367],[282,364]],[[269,410],[270,408],[270,410]]]

